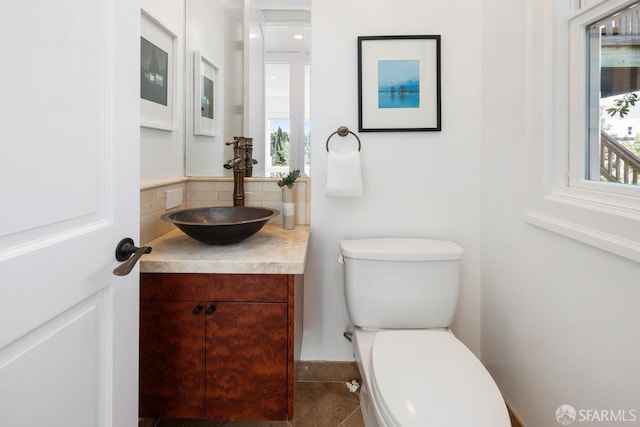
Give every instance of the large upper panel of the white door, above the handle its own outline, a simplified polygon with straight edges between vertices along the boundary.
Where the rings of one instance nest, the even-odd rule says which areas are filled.
[[[50,228],[68,229],[68,221],[95,220],[100,209],[111,2],[10,3],[0,17],[0,75],[2,120],[13,132],[2,144],[0,185],[20,215],[0,222],[0,236],[30,231],[38,238]],[[93,218],[78,221],[87,215]]]

